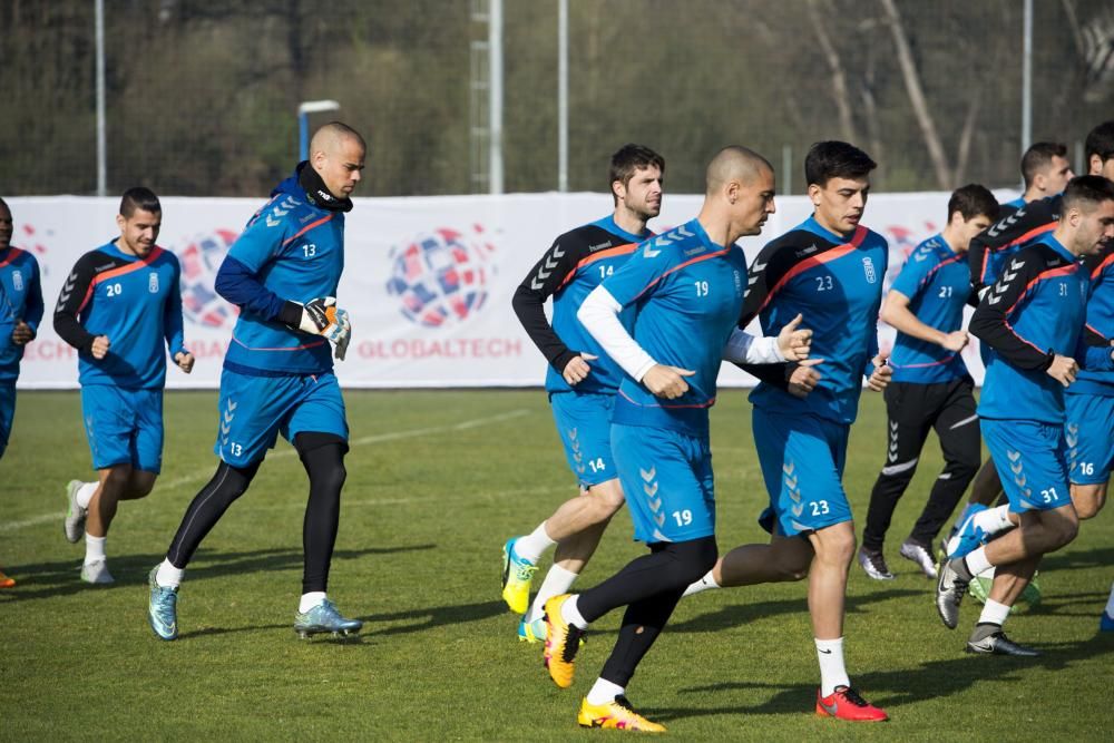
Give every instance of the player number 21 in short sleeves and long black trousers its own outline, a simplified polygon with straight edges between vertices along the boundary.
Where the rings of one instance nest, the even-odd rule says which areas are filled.
[[[967,246],[995,221],[998,202],[983,186],[958,188],[948,202],[948,223],[909,255],[882,303],[881,319],[897,331],[886,388],[889,442],[886,463],[870,493],[859,565],[878,580],[893,578],[882,542],[893,509],[917,471],[920,451],[936,429],[944,471],[901,544],[900,555],[936,577],[932,541],[980,463],[975,381],[959,352],[967,345],[964,306],[970,295]]]

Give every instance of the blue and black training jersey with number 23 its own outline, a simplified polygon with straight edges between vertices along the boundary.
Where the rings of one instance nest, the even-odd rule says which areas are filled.
[[[878,309],[889,248],[886,238],[859,226],[849,236],[809,217],[762,248],[751,265],[751,287],[740,325],[755,315],[766,335],[798,314],[812,330],[810,356],[823,359],[815,389],[803,400],[783,387],[759,383],[750,400],[776,413],[810,413],[838,423],[858,414],[862,378],[878,353]]]

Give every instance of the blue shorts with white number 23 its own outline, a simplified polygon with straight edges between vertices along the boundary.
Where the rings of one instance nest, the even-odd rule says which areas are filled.
[[[763,529],[795,537],[851,520],[842,482],[850,426],[763,408],[754,408],[751,423],[770,493],[759,517]]]

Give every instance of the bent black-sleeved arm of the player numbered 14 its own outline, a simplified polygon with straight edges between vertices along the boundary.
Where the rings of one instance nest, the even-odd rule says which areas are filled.
[[[569,235],[563,237],[564,239],[558,238],[530,268],[526,278],[515,290],[515,296],[510,302],[518,322],[522,324],[534,345],[538,346],[549,365],[561,374],[565,373],[569,362],[580,354],[565,345],[554,331],[553,325],[546,320],[545,304],[546,300],[565,285],[570,274],[576,271],[577,264],[587,254],[587,246],[583,241]]]

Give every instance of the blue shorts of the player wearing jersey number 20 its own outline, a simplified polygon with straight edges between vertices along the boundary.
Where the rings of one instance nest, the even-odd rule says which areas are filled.
[[[130,465],[163,470],[163,389],[126,390],[111,384],[81,388],[81,414],[94,469]]]

